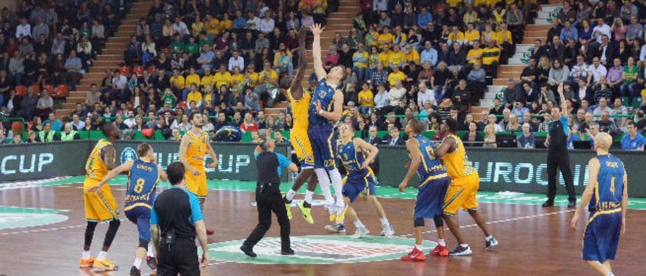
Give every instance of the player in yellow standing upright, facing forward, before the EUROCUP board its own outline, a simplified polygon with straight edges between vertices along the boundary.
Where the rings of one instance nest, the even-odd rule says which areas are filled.
[[[204,168],[204,155],[209,153],[213,162],[207,165],[208,168],[215,168],[218,158],[211,148],[209,137],[202,131],[202,114],[193,112],[189,115],[193,127],[184,133],[180,143],[180,162],[186,168],[185,183],[186,190],[200,198],[200,208],[204,213],[204,200],[208,196],[206,188],[206,170]],[[207,229],[207,235],[213,234],[213,230]]]

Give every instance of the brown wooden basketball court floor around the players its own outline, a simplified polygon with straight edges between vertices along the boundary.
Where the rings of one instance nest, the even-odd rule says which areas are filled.
[[[121,267],[120,271],[99,273],[79,270],[83,233],[83,197],[81,184],[45,186],[0,190],[0,205],[31,208],[68,210],[63,212],[67,221],[43,226],[0,230],[0,275],[127,275],[132,266],[134,250],[138,244],[134,224],[123,221],[109,251],[110,261]],[[113,190],[118,202],[123,204],[123,189]],[[256,223],[256,210],[251,206],[251,192],[211,190],[207,200],[205,221],[216,233],[209,236],[209,243],[244,239]],[[302,195],[297,195],[297,198]],[[316,196],[315,199],[320,199]],[[395,235],[412,238],[412,207],[414,201],[406,199],[381,199]],[[359,217],[373,233],[379,233],[379,220],[366,202],[357,201]],[[471,257],[432,257],[426,262],[391,261],[357,262],[344,264],[242,264],[214,259],[202,270],[203,275],[593,275],[581,261],[581,232],[574,233],[568,224],[572,210],[563,207],[541,208],[536,205],[484,203],[481,210],[490,232],[500,242],[494,251],[485,251],[482,232],[474,226],[466,213],[457,216],[463,235],[474,250]],[[314,225],[307,224],[293,208],[293,237],[303,235],[328,235],[323,229],[326,212],[315,207]],[[124,216],[125,217],[125,216]],[[275,221],[274,221],[275,222]],[[583,228],[582,222],[580,228]],[[427,222],[427,225],[432,222]],[[643,275],[646,266],[646,246],[643,226],[646,211],[629,210],[627,232],[621,237],[617,260],[612,268],[616,275]],[[427,227],[431,230],[430,227]],[[99,225],[92,244],[96,256],[107,225]],[[348,235],[355,230],[348,224]],[[429,231],[430,232],[430,231]],[[448,230],[447,230],[447,233]],[[278,236],[278,225],[267,237]],[[450,234],[448,246],[455,240]],[[435,233],[426,233],[426,239],[435,240]],[[412,240],[411,240],[412,244]],[[242,253],[240,253],[242,254]],[[298,251],[297,251],[298,254]],[[142,273],[154,275],[143,265]]]

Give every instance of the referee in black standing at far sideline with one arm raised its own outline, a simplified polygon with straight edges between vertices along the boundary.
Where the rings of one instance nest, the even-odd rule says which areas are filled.
[[[576,195],[574,193],[574,183],[572,182],[572,170],[570,170],[570,156],[567,153],[567,104],[563,96],[563,83],[557,88],[561,98],[561,106],[552,108],[552,121],[548,125],[547,140],[547,201],[543,207],[554,206],[554,197],[556,197],[556,169],[561,170],[565,188],[568,193],[568,208],[576,207]]]

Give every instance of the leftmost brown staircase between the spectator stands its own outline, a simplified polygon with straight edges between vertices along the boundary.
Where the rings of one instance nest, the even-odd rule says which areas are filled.
[[[68,94],[65,98],[62,108],[56,110],[56,117],[68,116],[74,110],[76,103],[85,103],[85,96],[90,91],[90,84],[101,84],[105,71],[116,70],[119,64],[123,63],[123,52],[130,41],[130,36],[136,33],[137,24],[139,19],[146,17],[148,10],[151,8],[154,1],[152,0],[139,0],[132,3],[130,13],[121,21],[121,25],[114,37],[109,37],[105,43],[105,48],[101,55],[96,57],[96,60],[90,66],[89,72],[83,75],[80,83],[76,86],[76,90]]]

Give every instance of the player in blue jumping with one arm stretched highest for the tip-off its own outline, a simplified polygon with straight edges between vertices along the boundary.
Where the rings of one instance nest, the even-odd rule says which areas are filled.
[[[323,29],[318,24],[311,27],[314,34],[312,45],[314,72],[317,75],[318,84],[309,105],[307,136],[312,144],[314,172],[326,198],[329,220],[336,221],[335,225],[340,229],[348,206],[343,201],[341,174],[334,158],[337,141],[334,139],[333,123],[341,119],[343,112],[343,93],[339,89],[339,84],[344,78],[345,70],[342,66],[335,66],[326,74],[323,69],[320,45],[320,34]],[[330,183],[334,187],[336,203],[329,190]]]

